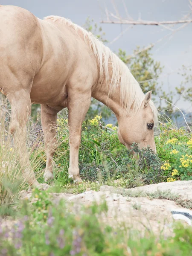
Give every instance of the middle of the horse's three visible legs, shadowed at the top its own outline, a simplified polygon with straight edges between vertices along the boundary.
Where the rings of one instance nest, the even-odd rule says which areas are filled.
[[[49,108],[47,105],[41,105],[41,124],[44,131],[45,151],[47,154],[46,168],[44,180],[53,178],[52,157],[56,149],[56,120],[57,113],[55,109]]]

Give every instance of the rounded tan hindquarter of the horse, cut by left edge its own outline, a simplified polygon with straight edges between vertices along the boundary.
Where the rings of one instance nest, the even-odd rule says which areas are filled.
[[[0,87],[9,95],[25,88],[41,65],[41,31],[37,18],[16,6],[0,7]]]

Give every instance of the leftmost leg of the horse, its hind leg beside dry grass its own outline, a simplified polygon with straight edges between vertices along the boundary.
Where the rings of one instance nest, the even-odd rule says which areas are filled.
[[[10,131],[14,135],[15,146],[20,157],[20,166],[26,182],[38,186],[35,174],[31,169],[29,153],[26,148],[26,122],[31,113],[31,99],[28,91],[18,90],[9,94],[9,101],[12,107]]]

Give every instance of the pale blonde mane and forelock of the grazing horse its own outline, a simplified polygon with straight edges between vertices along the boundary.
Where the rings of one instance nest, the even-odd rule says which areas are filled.
[[[131,71],[115,53],[99,41],[91,32],[87,32],[87,30],[77,24],[74,24],[71,20],[60,16],[47,16],[44,17],[44,19],[51,19],[54,22],[61,20],[65,25],[73,27],[77,33],[81,32],[83,34],[84,41],[90,44],[90,47],[97,58],[100,81],[105,77],[105,80],[109,85],[109,94],[115,93],[116,88],[120,84],[120,100],[122,107],[125,109],[125,113],[128,114],[131,110],[136,113],[139,111],[145,95],[141,90],[139,83],[131,74]],[[111,78],[109,76],[109,66],[112,67]],[[149,102],[149,105],[154,113],[154,122],[157,124],[157,109],[152,101]]]

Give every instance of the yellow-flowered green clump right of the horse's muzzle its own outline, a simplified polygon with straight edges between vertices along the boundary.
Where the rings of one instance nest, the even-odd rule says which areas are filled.
[[[162,124],[160,130],[155,142],[157,153],[164,161],[161,169],[167,176],[167,181],[191,180],[192,135],[184,128],[172,128],[171,123]]]

